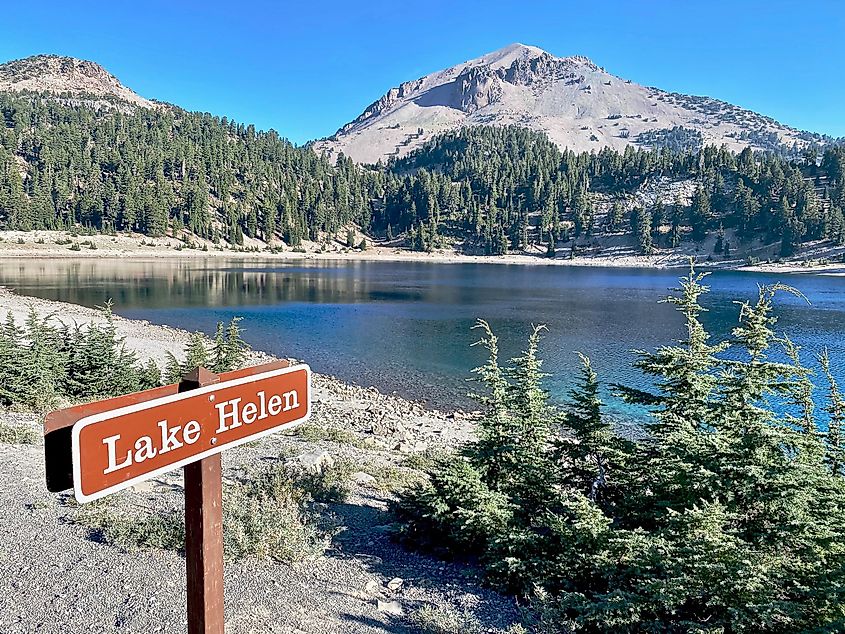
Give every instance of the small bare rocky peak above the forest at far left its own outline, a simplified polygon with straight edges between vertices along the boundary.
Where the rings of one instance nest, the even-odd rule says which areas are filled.
[[[0,64],[0,92],[45,92],[101,105],[115,102],[154,108],[99,64],[74,57],[35,55]]]

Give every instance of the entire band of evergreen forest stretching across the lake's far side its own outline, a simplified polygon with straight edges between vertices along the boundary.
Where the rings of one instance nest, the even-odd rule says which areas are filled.
[[[275,132],[171,106],[104,107],[0,92],[0,228],[136,231],[275,247],[357,226],[428,250],[640,251],[682,241],[842,242],[843,149],[787,161],[694,152],[561,151],[542,133],[467,128],[388,166],[334,163]],[[634,237],[632,237],[632,235]]]

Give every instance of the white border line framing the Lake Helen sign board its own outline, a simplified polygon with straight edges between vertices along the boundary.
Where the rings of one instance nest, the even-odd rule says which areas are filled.
[[[139,476],[135,476],[134,478],[130,478],[129,480],[124,480],[118,484],[112,485],[102,491],[97,491],[96,493],[92,493],[91,495],[86,495],[82,492],[82,475],[81,475],[81,465],[80,465],[80,453],[79,453],[79,434],[84,427],[88,425],[94,425],[96,423],[101,423],[105,420],[110,420],[112,418],[117,418],[119,416],[125,416],[126,414],[134,414],[135,412],[140,412],[145,409],[151,409],[153,407],[158,407],[159,405],[165,405],[168,403],[175,403],[178,401],[182,401],[188,398],[194,398],[196,396],[201,396],[203,394],[209,394],[211,392],[215,392],[220,389],[225,389],[229,387],[237,387],[238,385],[245,385],[247,383],[253,383],[256,381],[260,381],[262,379],[269,379],[275,376],[281,376],[283,374],[291,374],[293,372],[301,372],[305,370],[306,375],[306,389],[307,389],[307,398],[306,402],[308,407],[305,411],[305,415],[297,418],[295,420],[289,421],[277,427],[271,427],[270,429],[265,429],[264,431],[260,431],[256,434],[252,434],[250,436],[246,436],[244,438],[239,438],[238,440],[232,440],[226,443],[221,443],[218,446],[212,447],[211,449],[207,449],[202,453],[198,453],[196,455],[190,456],[189,458],[185,458],[183,460],[179,460],[172,464],[165,465],[163,467],[159,467],[149,473],[144,473]],[[290,429],[291,427],[296,427],[311,418],[311,367],[306,363],[300,363],[297,365],[288,366],[286,368],[279,368],[276,370],[269,370],[267,372],[261,372],[259,374],[250,374],[249,376],[241,377],[238,379],[232,379],[231,381],[224,381],[222,383],[213,383],[211,385],[206,385],[205,387],[200,387],[195,390],[188,390],[187,392],[180,392],[178,394],[171,394],[170,396],[162,396],[156,399],[152,399],[149,401],[144,401],[142,403],[135,403],[134,405],[127,405],[125,407],[120,407],[118,409],[109,410],[107,412],[100,412],[99,414],[92,414],[91,416],[86,416],[85,418],[81,418],[73,425],[72,435],[71,435],[71,456],[72,456],[72,463],[73,463],[73,494],[76,498],[76,501],[80,504],[85,504],[86,502],[93,502],[94,500],[99,500],[100,498],[106,497],[107,495],[111,495],[112,493],[116,493],[118,491],[122,491],[123,489],[128,489],[129,487],[138,484],[139,482],[143,482],[145,480],[149,480],[156,476],[159,476],[163,473],[167,473],[168,471],[173,471],[174,469],[178,469],[180,467],[184,467],[187,464],[192,462],[196,462],[197,460],[202,460],[203,458],[207,458],[208,456],[213,456],[214,454],[221,453],[224,449],[231,449],[232,447],[237,447],[238,445],[242,445],[244,443],[252,442],[254,440],[258,440],[259,438],[263,438],[264,436],[269,436],[270,434],[274,434],[279,431],[283,431],[285,429]]]

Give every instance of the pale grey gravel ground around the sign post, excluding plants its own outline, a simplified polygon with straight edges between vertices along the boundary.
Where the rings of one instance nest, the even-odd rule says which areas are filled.
[[[84,323],[96,311],[23,298],[0,289],[0,315],[19,318],[35,307]],[[127,345],[142,357],[178,352],[187,333],[117,318]],[[257,354],[255,361],[266,359]],[[321,430],[340,429],[342,439],[316,440],[304,433],[270,436],[224,453],[227,478],[238,477],[280,456],[327,451],[379,475],[401,470],[407,456],[453,446],[471,434],[461,412],[424,410],[403,399],[315,376],[314,414]],[[40,428],[34,414],[0,411],[0,423]],[[181,501],[179,472],[128,493],[134,502]],[[511,600],[481,588],[472,571],[406,551],[386,535],[389,495],[356,485],[330,511],[345,526],[324,556],[290,566],[251,560],[227,563],[227,633],[414,632],[409,615],[428,605],[462,615],[462,632],[504,631],[517,619]],[[70,521],[77,512],[69,495],[44,486],[43,447],[0,443],[0,632],[184,632],[184,559],[160,550],[123,551],[92,539]],[[401,584],[388,584],[396,578]],[[392,588],[392,589],[391,589]]]

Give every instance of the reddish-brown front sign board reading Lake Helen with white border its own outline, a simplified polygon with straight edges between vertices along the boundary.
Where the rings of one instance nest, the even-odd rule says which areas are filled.
[[[310,377],[307,365],[295,365],[82,418],[71,433],[77,501],[96,500],[307,420]]]

